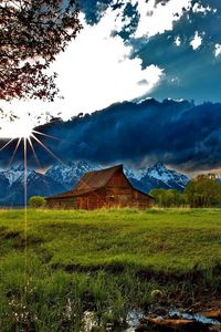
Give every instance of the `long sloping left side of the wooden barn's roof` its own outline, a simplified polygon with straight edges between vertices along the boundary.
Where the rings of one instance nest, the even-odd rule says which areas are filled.
[[[113,177],[113,175],[117,172],[123,172],[123,165],[117,165],[114,167],[101,169],[101,170],[93,170],[86,173],[77,183],[76,187],[70,191],[54,195],[49,197],[50,198],[66,198],[73,196],[81,196],[96,189],[104,187],[108,180]]]

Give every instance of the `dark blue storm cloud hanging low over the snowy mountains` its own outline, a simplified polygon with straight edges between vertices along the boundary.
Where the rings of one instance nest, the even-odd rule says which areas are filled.
[[[64,162],[129,160],[138,165],[161,160],[183,170],[221,166],[221,104],[123,103],[66,123],[48,124],[41,131],[61,139],[39,136]],[[35,149],[43,165],[55,162],[38,144]],[[8,148],[1,160],[11,153]],[[33,157],[29,163],[34,163]]]

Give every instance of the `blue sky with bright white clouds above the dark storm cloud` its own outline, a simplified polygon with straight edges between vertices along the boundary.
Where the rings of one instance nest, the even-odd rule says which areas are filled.
[[[39,116],[44,122],[49,111],[67,120],[149,96],[220,102],[220,0],[80,0],[80,4],[84,29],[51,66],[59,73],[64,100],[1,103],[20,115],[23,132]],[[1,137],[17,135],[7,118],[1,127]]]

